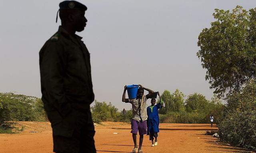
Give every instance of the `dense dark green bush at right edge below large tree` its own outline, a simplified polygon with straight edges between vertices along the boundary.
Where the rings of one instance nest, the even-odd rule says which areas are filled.
[[[256,81],[227,96],[223,120],[218,125],[220,140],[256,149]]]

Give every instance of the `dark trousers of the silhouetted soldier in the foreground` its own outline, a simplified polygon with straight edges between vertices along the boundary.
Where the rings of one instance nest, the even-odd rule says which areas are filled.
[[[57,111],[46,112],[51,122],[55,153],[96,153],[94,124],[90,109],[60,116]]]

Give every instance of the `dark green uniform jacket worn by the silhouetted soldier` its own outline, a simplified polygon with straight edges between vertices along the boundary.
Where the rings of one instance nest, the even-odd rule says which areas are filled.
[[[88,111],[94,100],[90,54],[81,39],[60,26],[39,52],[42,101],[52,124],[74,110]]]

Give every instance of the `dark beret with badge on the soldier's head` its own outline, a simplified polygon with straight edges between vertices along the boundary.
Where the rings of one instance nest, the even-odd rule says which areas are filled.
[[[80,3],[77,2],[75,0],[65,0],[63,2],[60,2],[59,4],[60,6],[60,10],[64,10],[64,9],[70,9],[70,10],[87,10],[87,7]]]

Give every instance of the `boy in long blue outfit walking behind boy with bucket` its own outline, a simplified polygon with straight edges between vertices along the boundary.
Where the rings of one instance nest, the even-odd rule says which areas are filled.
[[[160,102],[158,104],[156,104],[156,99],[152,98],[151,106],[148,106],[148,108],[147,108],[147,114],[148,114],[148,120],[147,120],[148,133],[147,133],[147,135],[149,135],[149,140],[152,141],[152,145],[151,145],[152,147],[157,145],[157,137],[158,137],[158,132],[159,132],[158,109],[162,108],[162,106],[164,104],[164,102],[161,100],[159,92],[158,92],[158,96],[159,96]],[[155,138],[155,142],[154,142],[154,138]]]

